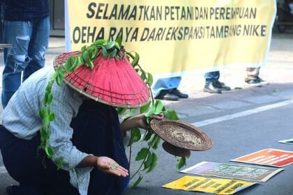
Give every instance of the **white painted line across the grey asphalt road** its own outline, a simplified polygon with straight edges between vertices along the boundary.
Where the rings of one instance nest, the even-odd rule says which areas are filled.
[[[231,120],[233,118],[239,118],[241,116],[248,116],[250,114],[256,114],[258,112],[266,111],[266,110],[269,110],[269,109],[276,109],[278,107],[283,107],[283,106],[286,106],[286,105],[292,104],[292,103],[293,103],[293,100],[287,100],[287,101],[284,101],[284,102],[278,102],[276,104],[269,104],[269,105],[266,105],[264,107],[258,107],[258,108],[250,109],[250,110],[247,110],[247,111],[241,111],[241,112],[235,113],[235,114],[228,114],[226,116],[220,116],[220,117],[217,117],[217,118],[211,118],[211,119],[208,119],[208,120],[202,120],[202,121],[199,121],[199,122],[196,122],[196,123],[192,123],[192,125],[195,125],[195,127],[202,127],[202,126],[205,126],[205,125],[211,125],[213,123],[220,123],[220,122],[223,122],[225,120]]]

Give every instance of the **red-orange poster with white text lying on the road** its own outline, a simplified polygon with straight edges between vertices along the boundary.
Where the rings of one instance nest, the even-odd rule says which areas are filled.
[[[293,152],[268,148],[230,161],[282,167],[293,163]]]

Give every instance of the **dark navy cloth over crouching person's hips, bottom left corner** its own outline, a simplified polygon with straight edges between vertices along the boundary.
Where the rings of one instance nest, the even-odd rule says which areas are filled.
[[[20,182],[16,194],[78,194],[70,185],[67,171],[57,171],[57,166],[38,150],[40,135],[32,140],[18,139],[0,126],[0,149],[3,163],[10,176]]]

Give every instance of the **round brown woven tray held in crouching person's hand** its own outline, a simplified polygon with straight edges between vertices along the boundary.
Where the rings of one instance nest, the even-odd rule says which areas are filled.
[[[208,150],[213,146],[211,138],[200,128],[183,120],[151,120],[151,129],[168,143],[187,150]]]

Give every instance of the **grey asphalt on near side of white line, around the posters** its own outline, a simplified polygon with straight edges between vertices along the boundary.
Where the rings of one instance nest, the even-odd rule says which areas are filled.
[[[253,108],[250,108],[250,110],[251,109]],[[213,148],[202,152],[192,152],[186,168],[203,161],[244,165],[241,163],[229,162],[229,160],[265,148],[292,151],[292,145],[278,143],[280,140],[293,138],[292,110],[293,104],[289,104],[276,109],[262,111],[257,114],[202,126],[201,129],[213,139]],[[227,114],[227,112],[223,112],[223,114]],[[189,120],[189,122],[191,123],[193,121]],[[172,155],[165,153],[162,148],[158,149],[158,153],[159,159],[156,171],[146,174],[140,187],[128,190],[128,192],[126,192],[127,195],[202,194],[200,192],[183,192],[162,188],[162,185],[188,174],[179,173],[179,171],[176,170],[176,159]],[[253,187],[244,189],[242,192],[239,192],[239,194],[293,194],[293,165],[285,166],[284,168],[284,171],[278,173],[267,182],[259,182]]]

